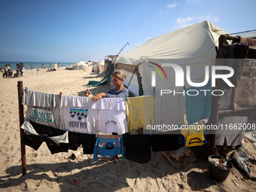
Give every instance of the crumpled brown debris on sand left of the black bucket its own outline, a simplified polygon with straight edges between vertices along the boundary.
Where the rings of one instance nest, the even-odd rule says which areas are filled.
[[[186,147],[179,148],[176,151],[163,151],[162,154],[176,169],[197,160],[193,151]]]

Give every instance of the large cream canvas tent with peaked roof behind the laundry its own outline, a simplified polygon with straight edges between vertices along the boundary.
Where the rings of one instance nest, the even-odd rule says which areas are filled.
[[[151,38],[136,49],[118,56],[115,65],[126,75],[124,85],[135,96],[139,96],[139,83],[134,69],[139,69],[142,77],[143,95],[152,95],[154,87],[151,85],[151,73],[158,69],[161,75],[156,75],[155,92],[160,94],[160,90],[183,90],[183,87],[175,87],[175,72],[172,67],[164,67],[163,71],[159,66],[162,63],[175,63],[186,72],[186,66],[190,66],[191,81],[195,83],[203,82],[205,78],[205,66],[215,65],[217,54],[218,38],[228,32],[215,26],[207,20],[200,23],[178,29],[173,32]],[[149,67],[151,66],[151,67]],[[154,68],[152,68],[154,67]],[[211,74],[211,71],[209,72]],[[138,76],[138,75],[137,75]],[[211,75],[210,75],[211,76]],[[133,77],[133,78],[132,78]],[[132,79],[131,79],[132,78]],[[190,87],[185,81],[184,86]]]

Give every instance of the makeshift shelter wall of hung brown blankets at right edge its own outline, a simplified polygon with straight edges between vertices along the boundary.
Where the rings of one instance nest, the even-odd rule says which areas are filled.
[[[209,123],[226,127],[216,132],[214,143],[225,146],[241,145],[245,131],[254,130],[251,126],[256,122],[256,39],[221,35],[217,58],[216,66],[229,65],[234,69],[230,81],[235,87],[227,87],[220,80],[216,82],[216,89],[224,90],[224,95],[213,96]]]

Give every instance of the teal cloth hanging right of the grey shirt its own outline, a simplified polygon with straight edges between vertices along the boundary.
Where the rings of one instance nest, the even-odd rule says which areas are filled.
[[[192,95],[189,96],[186,94],[187,123],[192,124],[210,117],[212,104],[212,79],[210,79],[203,87],[186,88],[186,93]]]

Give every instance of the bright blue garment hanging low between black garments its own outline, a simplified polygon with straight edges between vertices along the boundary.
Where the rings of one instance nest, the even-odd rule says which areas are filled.
[[[124,159],[123,136],[99,135],[94,146],[93,160],[98,160],[98,154],[100,156],[115,156],[122,154]]]

